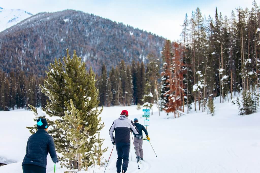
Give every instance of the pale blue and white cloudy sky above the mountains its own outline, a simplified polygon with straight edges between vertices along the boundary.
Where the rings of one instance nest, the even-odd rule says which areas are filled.
[[[258,4],[259,1],[257,0]],[[23,9],[33,14],[65,9],[80,10],[138,27],[173,41],[179,39],[180,25],[183,24],[185,13],[190,17],[192,10],[199,7],[203,16],[214,16],[217,7],[223,15],[230,16],[231,11],[239,6],[251,8],[252,0],[5,0],[0,4],[5,9]]]

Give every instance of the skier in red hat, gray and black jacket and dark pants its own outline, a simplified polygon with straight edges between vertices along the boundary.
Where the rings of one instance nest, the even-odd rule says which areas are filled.
[[[138,134],[139,131],[135,127],[134,122],[129,120],[128,111],[122,110],[121,116],[114,120],[112,126],[109,129],[109,135],[112,141],[112,144],[116,146],[116,152],[118,155],[116,161],[116,171],[118,173],[121,172],[121,165],[122,165],[122,172],[125,173],[128,167],[128,157],[129,157],[129,150],[130,150],[130,129],[133,130],[135,134]],[[115,131],[115,137],[113,132]]]

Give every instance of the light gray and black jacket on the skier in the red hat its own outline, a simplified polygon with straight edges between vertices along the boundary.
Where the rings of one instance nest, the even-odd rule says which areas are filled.
[[[138,129],[134,125],[134,122],[129,120],[127,116],[121,115],[118,119],[114,120],[112,126],[109,129],[111,141],[115,141],[115,143],[130,142],[130,129],[132,129],[135,134],[139,133]],[[115,137],[113,135],[114,131]]]

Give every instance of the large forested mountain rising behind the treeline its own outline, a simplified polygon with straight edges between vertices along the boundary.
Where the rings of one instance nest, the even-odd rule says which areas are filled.
[[[0,32],[0,69],[21,69],[42,75],[54,57],[77,51],[99,72],[132,60],[145,61],[148,53],[158,57],[165,39],[121,23],[81,11],[38,13]]]

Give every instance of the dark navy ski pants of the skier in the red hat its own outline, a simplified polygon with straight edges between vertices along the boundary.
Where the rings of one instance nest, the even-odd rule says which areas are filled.
[[[116,146],[116,152],[117,152],[117,161],[116,161],[116,171],[121,172],[121,166],[122,166],[122,159],[123,159],[123,166],[122,170],[126,172],[128,167],[128,157],[129,157],[129,150],[130,150],[130,142],[119,142],[115,144]]]

